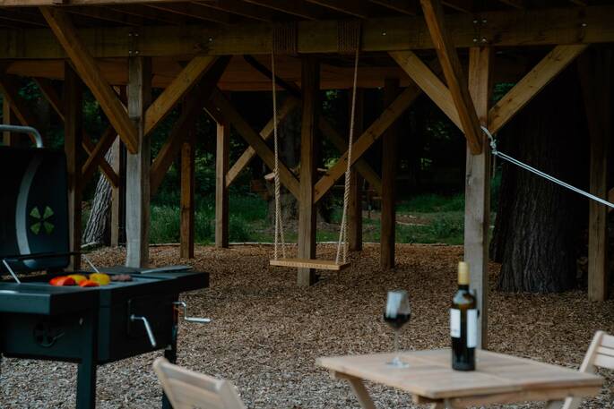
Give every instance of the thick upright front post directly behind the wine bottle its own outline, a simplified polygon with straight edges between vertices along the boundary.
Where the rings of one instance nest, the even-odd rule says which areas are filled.
[[[492,50],[472,47],[469,52],[469,92],[480,119],[488,124],[492,90]],[[482,141],[480,155],[471,155],[467,145],[465,168],[464,260],[471,270],[471,290],[478,297],[480,324],[478,347],[488,345],[489,324],[489,226],[490,226],[490,146]]]

